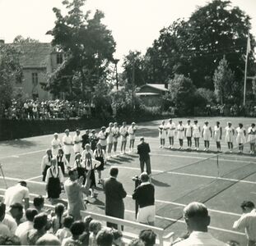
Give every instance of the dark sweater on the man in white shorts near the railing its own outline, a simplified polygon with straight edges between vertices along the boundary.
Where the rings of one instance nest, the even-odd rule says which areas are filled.
[[[133,199],[137,201],[139,207],[155,205],[154,185],[139,185],[134,190]]]

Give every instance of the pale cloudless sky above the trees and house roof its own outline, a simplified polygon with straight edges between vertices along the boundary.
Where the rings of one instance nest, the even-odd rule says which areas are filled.
[[[116,42],[115,58],[122,59],[129,50],[143,54],[159,37],[159,31],[178,18],[188,19],[206,0],[87,0],[84,10],[100,9],[104,24],[112,30]],[[256,0],[230,0],[251,19],[256,36]],[[53,7],[64,10],[62,0],[0,0],[0,38],[12,43],[16,35],[50,42],[45,35],[56,20]],[[120,66],[120,64],[119,64]]]

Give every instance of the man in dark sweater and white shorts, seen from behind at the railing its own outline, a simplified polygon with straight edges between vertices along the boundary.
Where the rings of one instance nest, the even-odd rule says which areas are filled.
[[[140,175],[141,185],[133,193],[133,199],[137,201],[139,209],[137,221],[142,224],[154,225],[156,216],[155,188],[149,182],[147,172]]]

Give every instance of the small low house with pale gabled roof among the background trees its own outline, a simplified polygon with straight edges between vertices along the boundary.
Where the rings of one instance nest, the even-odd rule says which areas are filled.
[[[144,84],[137,91],[136,96],[141,98],[147,107],[160,107],[162,96],[167,91],[165,84]]]

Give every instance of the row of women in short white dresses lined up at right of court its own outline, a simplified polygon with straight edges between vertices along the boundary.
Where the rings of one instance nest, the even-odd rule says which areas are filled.
[[[244,125],[239,123],[238,127],[233,127],[232,123],[229,121],[224,129],[220,125],[219,121],[216,121],[216,125],[209,125],[208,121],[204,122],[202,128],[198,125],[198,121],[193,121],[193,124],[190,120],[187,121],[187,124],[184,125],[183,121],[179,121],[178,125],[175,125],[175,122],[172,119],[169,120],[168,124],[165,125],[165,121],[161,122],[161,125],[158,126],[159,130],[159,139],[160,139],[160,148],[165,147],[165,139],[169,140],[169,148],[174,147],[175,133],[177,133],[177,139],[179,139],[179,149],[184,148],[184,139],[188,141],[188,148],[192,148],[192,139],[194,139],[194,149],[199,150],[199,139],[202,137],[204,142],[204,151],[208,151],[210,147],[210,140],[214,139],[216,142],[217,151],[221,151],[221,139],[223,134],[225,134],[225,142],[228,145],[230,153],[232,153],[234,147],[234,140],[239,145],[239,153],[242,153],[244,150],[244,144],[246,142],[250,143],[250,153],[255,153],[255,143],[256,143],[256,128],[255,124],[252,123],[248,130],[245,130]]]

